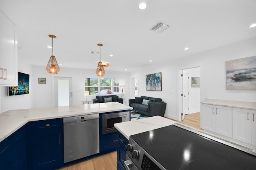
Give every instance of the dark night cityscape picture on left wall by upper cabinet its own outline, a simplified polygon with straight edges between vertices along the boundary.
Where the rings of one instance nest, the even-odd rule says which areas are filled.
[[[18,72],[18,86],[8,87],[8,96],[29,93],[29,74]]]

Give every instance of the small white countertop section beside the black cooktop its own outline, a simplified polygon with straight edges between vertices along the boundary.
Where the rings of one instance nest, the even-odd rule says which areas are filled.
[[[115,123],[114,127],[120,133],[122,133],[122,135],[124,135],[126,139],[129,140],[129,137],[131,135],[173,125],[174,123],[177,123],[177,122],[161,116],[152,116],[144,119],[137,119],[137,120],[131,120],[131,121],[126,121],[122,123]]]

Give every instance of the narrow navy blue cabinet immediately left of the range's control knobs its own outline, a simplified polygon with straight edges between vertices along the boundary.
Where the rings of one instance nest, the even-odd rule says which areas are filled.
[[[124,168],[124,161],[126,160],[126,147],[128,144],[128,140],[122,133],[119,131],[118,133],[118,145],[119,148],[117,150],[117,165],[118,165],[118,170],[125,170]]]

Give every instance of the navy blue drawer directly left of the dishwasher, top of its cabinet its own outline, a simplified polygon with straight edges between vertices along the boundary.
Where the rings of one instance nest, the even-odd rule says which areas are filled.
[[[63,119],[48,119],[40,121],[29,122],[29,131],[30,132],[41,132],[48,131],[53,129],[58,129],[63,127]]]

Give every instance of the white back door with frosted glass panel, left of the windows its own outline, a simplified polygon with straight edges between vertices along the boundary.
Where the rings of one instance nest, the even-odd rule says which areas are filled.
[[[54,106],[72,105],[72,96],[72,78],[54,77]]]

